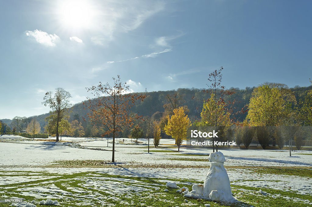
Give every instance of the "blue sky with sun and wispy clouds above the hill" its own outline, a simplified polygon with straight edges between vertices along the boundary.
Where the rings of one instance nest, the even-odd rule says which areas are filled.
[[[308,86],[311,1],[0,0],[0,119],[47,113],[46,91],[72,103],[119,74],[131,91]]]

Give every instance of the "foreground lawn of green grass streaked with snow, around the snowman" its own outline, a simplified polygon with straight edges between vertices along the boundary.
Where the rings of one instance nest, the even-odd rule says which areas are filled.
[[[267,195],[257,194],[259,188],[244,185],[232,185],[232,192],[239,199],[237,203],[215,203],[206,200],[187,198],[177,193],[177,189],[166,187],[167,181],[177,182],[179,187],[192,188],[198,181],[188,179],[163,179],[147,177],[131,177],[111,175],[100,172],[82,172],[74,174],[51,174],[32,171],[0,171],[0,176],[16,177],[23,175],[31,177],[34,174],[41,176],[57,176],[34,181],[0,185],[0,197],[24,198],[27,202],[35,200],[35,204],[54,196],[61,206],[309,206],[298,203],[297,200],[310,200],[311,195],[301,195],[292,191],[262,188]],[[40,193],[37,189],[40,189]],[[168,189],[168,191],[164,191]],[[39,206],[38,204],[36,204]],[[7,203],[0,203],[7,206]]]

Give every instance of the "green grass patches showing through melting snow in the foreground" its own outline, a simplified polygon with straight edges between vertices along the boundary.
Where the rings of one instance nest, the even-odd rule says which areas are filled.
[[[262,170],[262,169],[261,169]],[[279,170],[279,169],[275,169]],[[294,169],[290,169],[294,170]],[[273,171],[271,171],[273,173]],[[300,171],[301,172],[301,171]],[[14,171],[0,171],[2,176],[9,176],[14,175]],[[23,174],[22,172],[18,172]],[[31,171],[26,172],[25,174],[30,174]],[[37,173],[37,172],[36,172]],[[49,173],[45,172],[39,172],[42,175],[51,175]],[[266,173],[268,173],[266,171]],[[23,187],[43,187],[48,188],[48,185],[54,184],[56,187],[58,187],[61,190],[67,191],[72,193],[72,195],[66,195],[69,198],[76,199],[77,194],[78,196],[86,196],[89,194],[94,195],[101,195],[102,197],[105,197],[103,201],[107,202],[107,204],[113,204],[118,207],[124,207],[124,206],[141,206],[141,204],[145,204],[144,206],[165,206],[165,207],[171,207],[171,206],[187,206],[184,202],[184,197],[182,194],[179,194],[176,192],[177,189],[170,189],[168,188],[168,192],[163,191],[164,189],[167,189],[165,182],[163,179],[157,179],[157,178],[148,178],[148,177],[130,177],[130,176],[122,176],[122,175],[110,175],[110,174],[102,174],[98,172],[82,172],[82,173],[74,173],[74,174],[54,174],[56,176],[59,176],[58,178],[42,178],[41,180],[37,181],[29,181],[29,182],[23,182],[23,183],[15,183],[15,184],[6,184],[1,185],[0,184],[0,198],[4,199],[3,196],[9,196],[9,197],[19,197],[24,198],[26,201],[30,202],[32,200],[40,201],[45,198],[35,198],[32,196],[23,196],[20,193],[27,192],[27,190],[22,190],[20,188]],[[173,178],[165,178],[166,180],[172,180],[174,182],[183,183],[179,184],[180,187],[185,186],[189,189],[192,188],[192,183],[198,183],[198,181],[190,180],[190,179],[173,179]],[[105,189],[101,189],[101,186],[109,186],[107,185],[109,181],[115,181],[118,184],[116,187],[121,187],[121,184],[124,186],[134,186],[134,187],[144,187],[148,191],[142,191],[142,192],[134,192],[131,190],[127,190],[127,193],[115,193],[114,196],[119,198],[117,200],[109,199],[107,196],[109,194]],[[49,183],[43,183],[43,182],[49,182]],[[93,181],[96,181],[96,183],[93,183]],[[272,180],[270,180],[272,181]],[[252,182],[252,180],[251,180]],[[269,182],[269,181],[268,181]],[[86,184],[89,184],[92,186],[92,189],[88,189],[88,186]],[[262,207],[262,206],[273,206],[273,207],[280,207],[280,206],[298,206],[298,207],[306,207],[309,206],[309,204],[303,204],[298,203],[293,200],[287,200],[283,199],[283,197],[290,197],[290,198],[299,198],[303,200],[310,200],[312,201],[311,195],[302,195],[297,194],[293,191],[283,191],[283,190],[275,190],[275,189],[269,189],[269,188],[261,188],[263,191],[266,191],[268,195],[264,196],[261,194],[256,194],[256,191],[258,191],[260,188],[254,188],[254,187],[248,187],[243,185],[231,185],[232,186],[232,192],[236,194],[239,201],[235,204],[222,204],[222,203],[214,203],[212,201],[206,201],[206,200],[197,200],[192,198],[187,198],[189,203],[193,203],[194,206],[204,206],[204,204],[211,204],[212,207],[219,207],[219,206],[231,206],[231,207],[241,207],[241,206],[256,206],[256,207]],[[92,193],[77,193],[73,189],[67,189],[68,187],[71,188],[80,188],[85,191],[91,191]],[[154,190],[155,187],[159,187],[160,190],[156,191]],[[111,188],[114,189],[114,188]],[[2,192],[3,191],[3,192]],[[243,195],[239,194],[239,192],[244,192]],[[139,194],[138,194],[139,193]],[[250,193],[253,193],[254,195],[251,195]],[[44,194],[50,194],[50,192],[45,192]],[[55,192],[51,192],[51,194],[59,194]],[[130,194],[131,198],[127,198],[127,195]],[[280,194],[280,197],[272,198],[271,194],[277,195]],[[176,197],[176,198],[175,198]],[[46,200],[46,199],[45,199]],[[90,202],[94,203],[92,206],[102,206],[99,203],[99,200],[96,198],[89,197],[88,199],[85,199],[85,201],[78,201],[78,200],[65,200],[65,199],[52,199],[52,200],[58,200],[60,203],[59,206],[91,206],[91,205],[85,205],[84,202]],[[169,202],[168,202],[169,201]],[[11,204],[11,203],[10,203]],[[4,204],[0,203],[0,207],[9,206],[10,204]],[[37,206],[41,206],[37,204]]]

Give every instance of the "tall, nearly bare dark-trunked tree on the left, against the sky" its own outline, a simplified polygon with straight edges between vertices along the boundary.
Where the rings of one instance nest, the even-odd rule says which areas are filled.
[[[70,103],[71,94],[63,88],[56,88],[55,92],[46,92],[42,104],[49,106],[52,110],[50,114],[54,114],[56,122],[56,142],[59,141],[59,126],[61,120],[66,115],[68,108],[71,107]]]

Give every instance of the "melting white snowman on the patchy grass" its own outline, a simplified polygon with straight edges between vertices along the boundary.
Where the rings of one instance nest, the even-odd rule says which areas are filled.
[[[204,184],[194,184],[189,196],[220,202],[234,201],[230,180],[223,165],[224,155],[222,152],[215,152],[209,154],[208,159],[211,166],[206,174]]]

